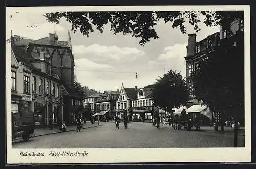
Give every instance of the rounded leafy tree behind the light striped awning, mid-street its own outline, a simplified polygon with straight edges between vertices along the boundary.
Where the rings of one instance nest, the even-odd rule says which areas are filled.
[[[184,106],[188,101],[188,89],[180,73],[170,70],[157,79],[153,86],[154,106],[172,112],[173,108]]]

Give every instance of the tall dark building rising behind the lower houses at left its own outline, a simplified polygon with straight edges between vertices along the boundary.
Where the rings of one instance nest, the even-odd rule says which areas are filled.
[[[64,120],[67,124],[72,123],[82,107],[82,105],[72,106],[72,101],[79,100],[80,103],[83,99],[74,92],[74,55],[69,32],[67,41],[59,41],[56,32],[39,40],[14,37],[15,44],[23,47],[33,58],[34,67],[47,74],[57,75],[61,79],[63,84],[61,91],[65,103]]]

